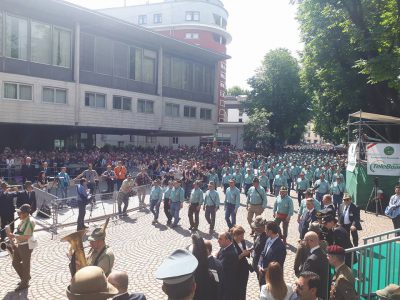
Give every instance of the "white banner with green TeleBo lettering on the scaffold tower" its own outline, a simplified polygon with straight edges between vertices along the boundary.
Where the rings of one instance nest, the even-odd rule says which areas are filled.
[[[400,176],[400,144],[367,144],[368,175]]]

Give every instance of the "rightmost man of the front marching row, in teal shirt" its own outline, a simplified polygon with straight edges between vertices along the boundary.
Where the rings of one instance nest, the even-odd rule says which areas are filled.
[[[273,217],[278,226],[282,223],[283,242],[286,245],[289,222],[291,216],[293,216],[293,200],[288,196],[285,186],[281,187],[279,194],[274,203]]]

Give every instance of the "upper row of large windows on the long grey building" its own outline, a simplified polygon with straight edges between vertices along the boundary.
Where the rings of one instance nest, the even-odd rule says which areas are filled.
[[[0,12],[0,55],[4,40],[7,57],[70,68],[71,39],[70,30]],[[81,70],[156,84],[157,61],[156,51],[81,33]],[[213,94],[212,66],[164,55],[163,69],[164,86]]]

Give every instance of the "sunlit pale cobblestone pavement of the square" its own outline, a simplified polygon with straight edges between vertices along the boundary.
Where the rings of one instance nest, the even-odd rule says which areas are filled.
[[[221,199],[223,195],[221,193]],[[294,193],[292,194],[294,196]],[[246,221],[246,209],[244,195],[242,195],[242,207],[239,208],[237,223],[244,225],[247,230],[245,238],[252,242],[249,236],[249,225]],[[297,201],[293,199],[295,208]],[[268,204],[272,205],[274,198],[268,197]],[[148,202],[148,201],[147,201]],[[177,248],[185,248],[190,244],[190,232],[187,217],[187,207],[181,210],[181,226],[170,229],[164,224],[166,222],[162,207],[160,209],[160,224],[151,225],[152,214],[147,210],[135,211],[129,214],[129,218],[124,220],[113,219],[107,228],[107,243],[112,247],[116,260],[115,270],[124,270],[129,273],[129,290],[143,292],[147,299],[158,300],[166,299],[161,291],[161,282],[155,279],[155,270],[163,259]],[[102,209],[98,206],[98,209]],[[226,229],[224,221],[224,210],[217,212],[216,230]],[[264,217],[272,219],[271,208],[264,211]],[[360,243],[362,238],[379,232],[391,230],[392,223],[386,217],[378,216],[363,211],[361,213],[364,230],[360,232]],[[101,225],[101,223],[97,224]],[[96,226],[91,224],[91,229]],[[51,239],[51,234],[47,231],[37,233],[39,246],[32,254],[32,280],[29,290],[22,293],[14,293],[13,290],[19,281],[18,276],[11,266],[9,256],[0,257],[0,299],[66,299],[65,288],[70,281],[68,270],[68,258],[66,253],[69,244],[60,242],[61,237],[75,230],[75,226],[59,231],[59,234]],[[213,251],[218,250],[217,234],[209,235],[208,226],[204,214],[200,217],[200,234],[211,239]],[[292,218],[289,225],[289,237],[287,247],[287,257],[285,262],[285,280],[292,283],[295,279],[293,272],[293,262],[295,245],[298,239],[296,218]],[[258,298],[258,283],[254,273],[250,274],[247,299]]]

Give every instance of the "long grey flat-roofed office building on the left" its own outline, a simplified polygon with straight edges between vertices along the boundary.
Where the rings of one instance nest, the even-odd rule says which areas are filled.
[[[0,146],[214,134],[227,58],[61,0],[1,0]]]

